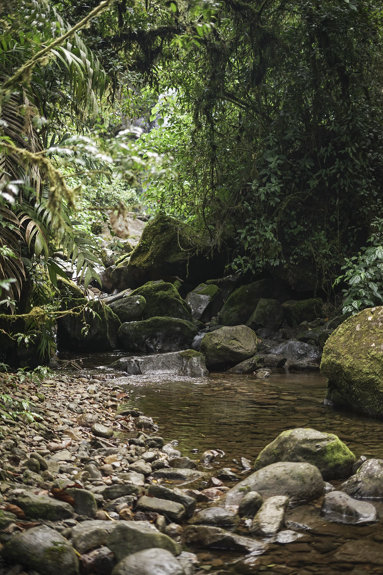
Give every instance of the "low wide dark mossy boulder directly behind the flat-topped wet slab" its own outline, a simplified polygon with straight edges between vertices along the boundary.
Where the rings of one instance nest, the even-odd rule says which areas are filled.
[[[197,329],[190,321],[150,317],[123,323],[118,330],[118,340],[126,351],[156,354],[189,349],[196,333]]]

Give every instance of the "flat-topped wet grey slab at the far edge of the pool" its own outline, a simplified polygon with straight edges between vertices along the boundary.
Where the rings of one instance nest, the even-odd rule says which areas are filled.
[[[117,371],[126,371],[129,375],[206,377],[209,374],[204,355],[194,350],[119,358],[110,367]]]

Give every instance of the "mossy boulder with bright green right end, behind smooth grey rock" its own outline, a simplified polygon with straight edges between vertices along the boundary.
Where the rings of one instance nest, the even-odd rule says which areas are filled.
[[[318,467],[324,480],[349,477],[355,455],[336,435],[296,428],[283,431],[258,455],[254,469],[277,461],[300,461]]]

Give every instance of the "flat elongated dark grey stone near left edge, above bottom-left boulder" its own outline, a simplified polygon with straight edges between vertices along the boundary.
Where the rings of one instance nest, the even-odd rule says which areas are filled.
[[[7,500],[20,507],[30,519],[47,519],[57,521],[67,519],[73,515],[73,507],[65,501],[53,499],[46,495],[36,495],[34,493],[19,490],[9,495]]]

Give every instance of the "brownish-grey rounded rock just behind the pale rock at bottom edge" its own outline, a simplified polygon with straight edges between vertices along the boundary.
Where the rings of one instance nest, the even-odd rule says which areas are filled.
[[[111,549],[117,561],[121,561],[126,555],[137,551],[151,549],[166,549],[173,555],[181,553],[181,547],[170,537],[160,533],[148,521],[120,521],[113,531],[110,532],[106,546]]]

